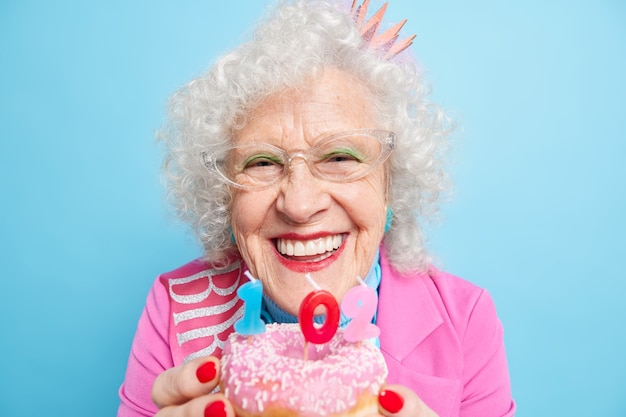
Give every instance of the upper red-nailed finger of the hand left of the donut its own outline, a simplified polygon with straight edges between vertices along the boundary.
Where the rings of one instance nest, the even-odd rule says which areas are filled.
[[[163,408],[183,404],[209,394],[220,378],[220,362],[215,357],[198,358],[161,373],[152,386],[152,401]]]

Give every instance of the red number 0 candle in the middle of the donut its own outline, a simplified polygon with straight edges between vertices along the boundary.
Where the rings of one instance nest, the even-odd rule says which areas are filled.
[[[315,309],[323,305],[326,308],[326,320],[321,327],[315,326]],[[300,329],[307,342],[322,344],[328,342],[337,333],[339,327],[339,305],[331,293],[324,290],[309,293],[300,304],[298,314]]]

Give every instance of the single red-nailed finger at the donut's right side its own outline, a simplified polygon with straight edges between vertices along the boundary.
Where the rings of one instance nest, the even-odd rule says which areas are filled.
[[[402,385],[386,385],[378,395],[383,416],[437,417],[413,391]]]

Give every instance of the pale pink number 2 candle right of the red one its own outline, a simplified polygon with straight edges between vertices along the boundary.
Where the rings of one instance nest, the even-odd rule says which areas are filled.
[[[352,319],[344,330],[343,337],[348,342],[360,342],[361,340],[378,337],[380,329],[372,324],[372,318],[376,314],[378,296],[357,277],[361,285],[351,288],[341,301],[341,311],[346,317]]]

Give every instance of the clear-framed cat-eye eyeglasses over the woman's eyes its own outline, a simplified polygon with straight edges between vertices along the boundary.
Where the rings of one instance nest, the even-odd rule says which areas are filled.
[[[356,181],[385,162],[395,144],[393,132],[362,129],[334,134],[307,150],[287,152],[268,143],[250,143],[231,146],[222,156],[205,151],[202,159],[230,185],[259,190],[286,177],[295,158],[302,158],[316,178],[335,183]]]

